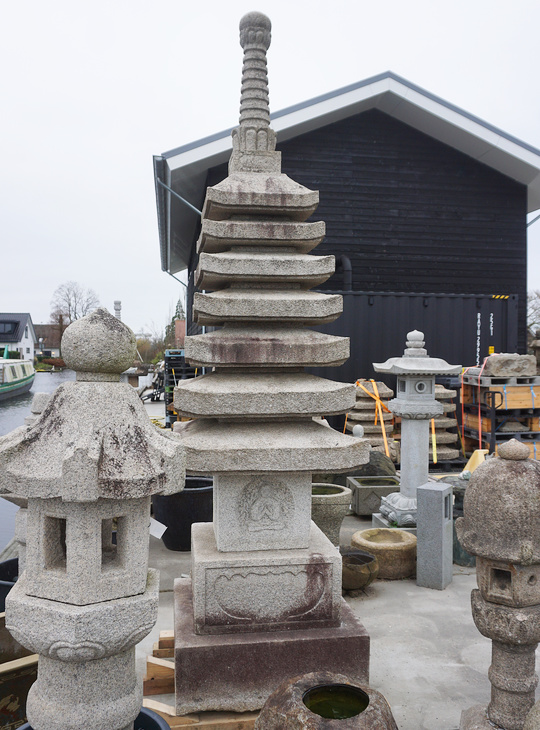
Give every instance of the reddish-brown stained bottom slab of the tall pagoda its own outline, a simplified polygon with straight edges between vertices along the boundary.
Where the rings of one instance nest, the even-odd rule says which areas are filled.
[[[190,580],[177,580],[177,714],[258,710],[287,677],[321,670],[367,684],[369,635],[344,601],[341,615],[336,628],[199,636]]]

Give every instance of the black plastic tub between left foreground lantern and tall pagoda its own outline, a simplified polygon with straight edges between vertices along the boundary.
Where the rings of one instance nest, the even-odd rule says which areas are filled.
[[[211,477],[186,477],[186,486],[177,494],[152,497],[154,517],[167,529],[163,544],[169,550],[191,550],[191,525],[212,522],[214,487]]]

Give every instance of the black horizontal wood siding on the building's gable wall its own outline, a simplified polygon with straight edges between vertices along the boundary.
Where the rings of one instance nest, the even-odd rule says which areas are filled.
[[[353,290],[517,294],[526,352],[526,186],[378,110],[279,149],[283,172],[319,190],[316,253],[347,256]],[[320,288],[344,288],[339,267]]]

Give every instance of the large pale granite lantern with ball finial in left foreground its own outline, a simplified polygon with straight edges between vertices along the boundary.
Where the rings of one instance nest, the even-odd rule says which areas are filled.
[[[183,451],[119,382],[135,337],[107,310],[70,325],[62,355],[76,381],[0,439],[0,493],[28,500],[26,570],[6,626],[39,654],[34,730],[131,730],[142,703],[135,644],[157,618],[150,499],[182,489]]]

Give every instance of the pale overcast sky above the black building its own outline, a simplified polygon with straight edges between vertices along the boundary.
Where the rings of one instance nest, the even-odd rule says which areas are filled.
[[[0,0],[0,311],[91,287],[135,331],[160,268],[152,156],[237,124],[238,22],[272,20],[272,111],[386,70],[540,148],[538,0]],[[540,212],[540,211],[539,211]],[[530,216],[532,218],[533,216]],[[540,221],[529,288],[540,288]]]

